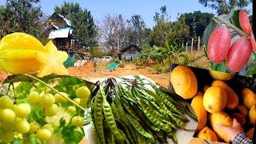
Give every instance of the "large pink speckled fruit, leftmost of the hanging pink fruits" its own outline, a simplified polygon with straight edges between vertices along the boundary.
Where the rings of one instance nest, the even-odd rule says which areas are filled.
[[[210,62],[222,63],[230,50],[231,35],[226,26],[218,26],[211,34],[207,44]]]

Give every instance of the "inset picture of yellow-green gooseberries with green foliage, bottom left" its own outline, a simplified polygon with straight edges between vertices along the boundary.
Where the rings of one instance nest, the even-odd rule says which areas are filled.
[[[70,77],[10,76],[0,91],[0,143],[78,143],[90,119],[89,83]]]

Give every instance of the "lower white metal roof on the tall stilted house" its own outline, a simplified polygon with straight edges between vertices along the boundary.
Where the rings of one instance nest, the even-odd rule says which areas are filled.
[[[65,27],[60,28],[58,30],[50,30],[49,39],[54,38],[68,38],[69,34],[72,34],[73,28],[72,27]]]

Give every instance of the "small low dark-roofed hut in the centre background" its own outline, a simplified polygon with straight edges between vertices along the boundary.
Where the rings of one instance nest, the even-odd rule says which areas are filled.
[[[130,44],[129,46],[126,46],[124,49],[120,50],[118,53],[118,59],[119,60],[125,60],[125,61],[133,61],[135,57],[137,57],[142,49],[134,44]]]

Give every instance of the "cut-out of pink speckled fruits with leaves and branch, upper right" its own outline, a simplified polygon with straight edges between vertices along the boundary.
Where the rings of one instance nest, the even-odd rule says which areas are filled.
[[[212,70],[256,74],[256,42],[246,10],[212,18],[202,39]]]

